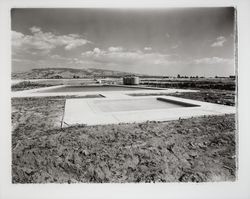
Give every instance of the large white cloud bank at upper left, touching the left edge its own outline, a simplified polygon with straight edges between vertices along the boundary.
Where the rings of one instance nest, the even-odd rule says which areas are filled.
[[[39,27],[30,28],[31,35],[12,31],[12,46],[15,52],[28,53],[49,53],[52,49],[63,47],[65,50],[72,50],[83,46],[90,41],[77,34],[55,35],[51,32],[43,32]]]

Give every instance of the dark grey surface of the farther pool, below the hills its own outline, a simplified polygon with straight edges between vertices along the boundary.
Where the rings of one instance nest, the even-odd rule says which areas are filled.
[[[65,86],[39,91],[40,93],[60,93],[60,92],[93,92],[93,91],[130,91],[149,88],[123,87],[123,86]],[[152,88],[153,89],[153,88]]]

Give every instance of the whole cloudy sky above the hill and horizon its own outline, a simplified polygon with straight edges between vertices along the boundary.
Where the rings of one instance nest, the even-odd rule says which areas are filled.
[[[12,9],[12,71],[99,68],[229,76],[233,8]]]

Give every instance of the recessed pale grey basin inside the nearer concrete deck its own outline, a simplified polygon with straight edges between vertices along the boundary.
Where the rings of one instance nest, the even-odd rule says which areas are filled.
[[[196,106],[193,104],[181,104],[176,101],[163,101],[157,98],[96,100],[94,101],[94,105],[101,112],[171,109]]]

